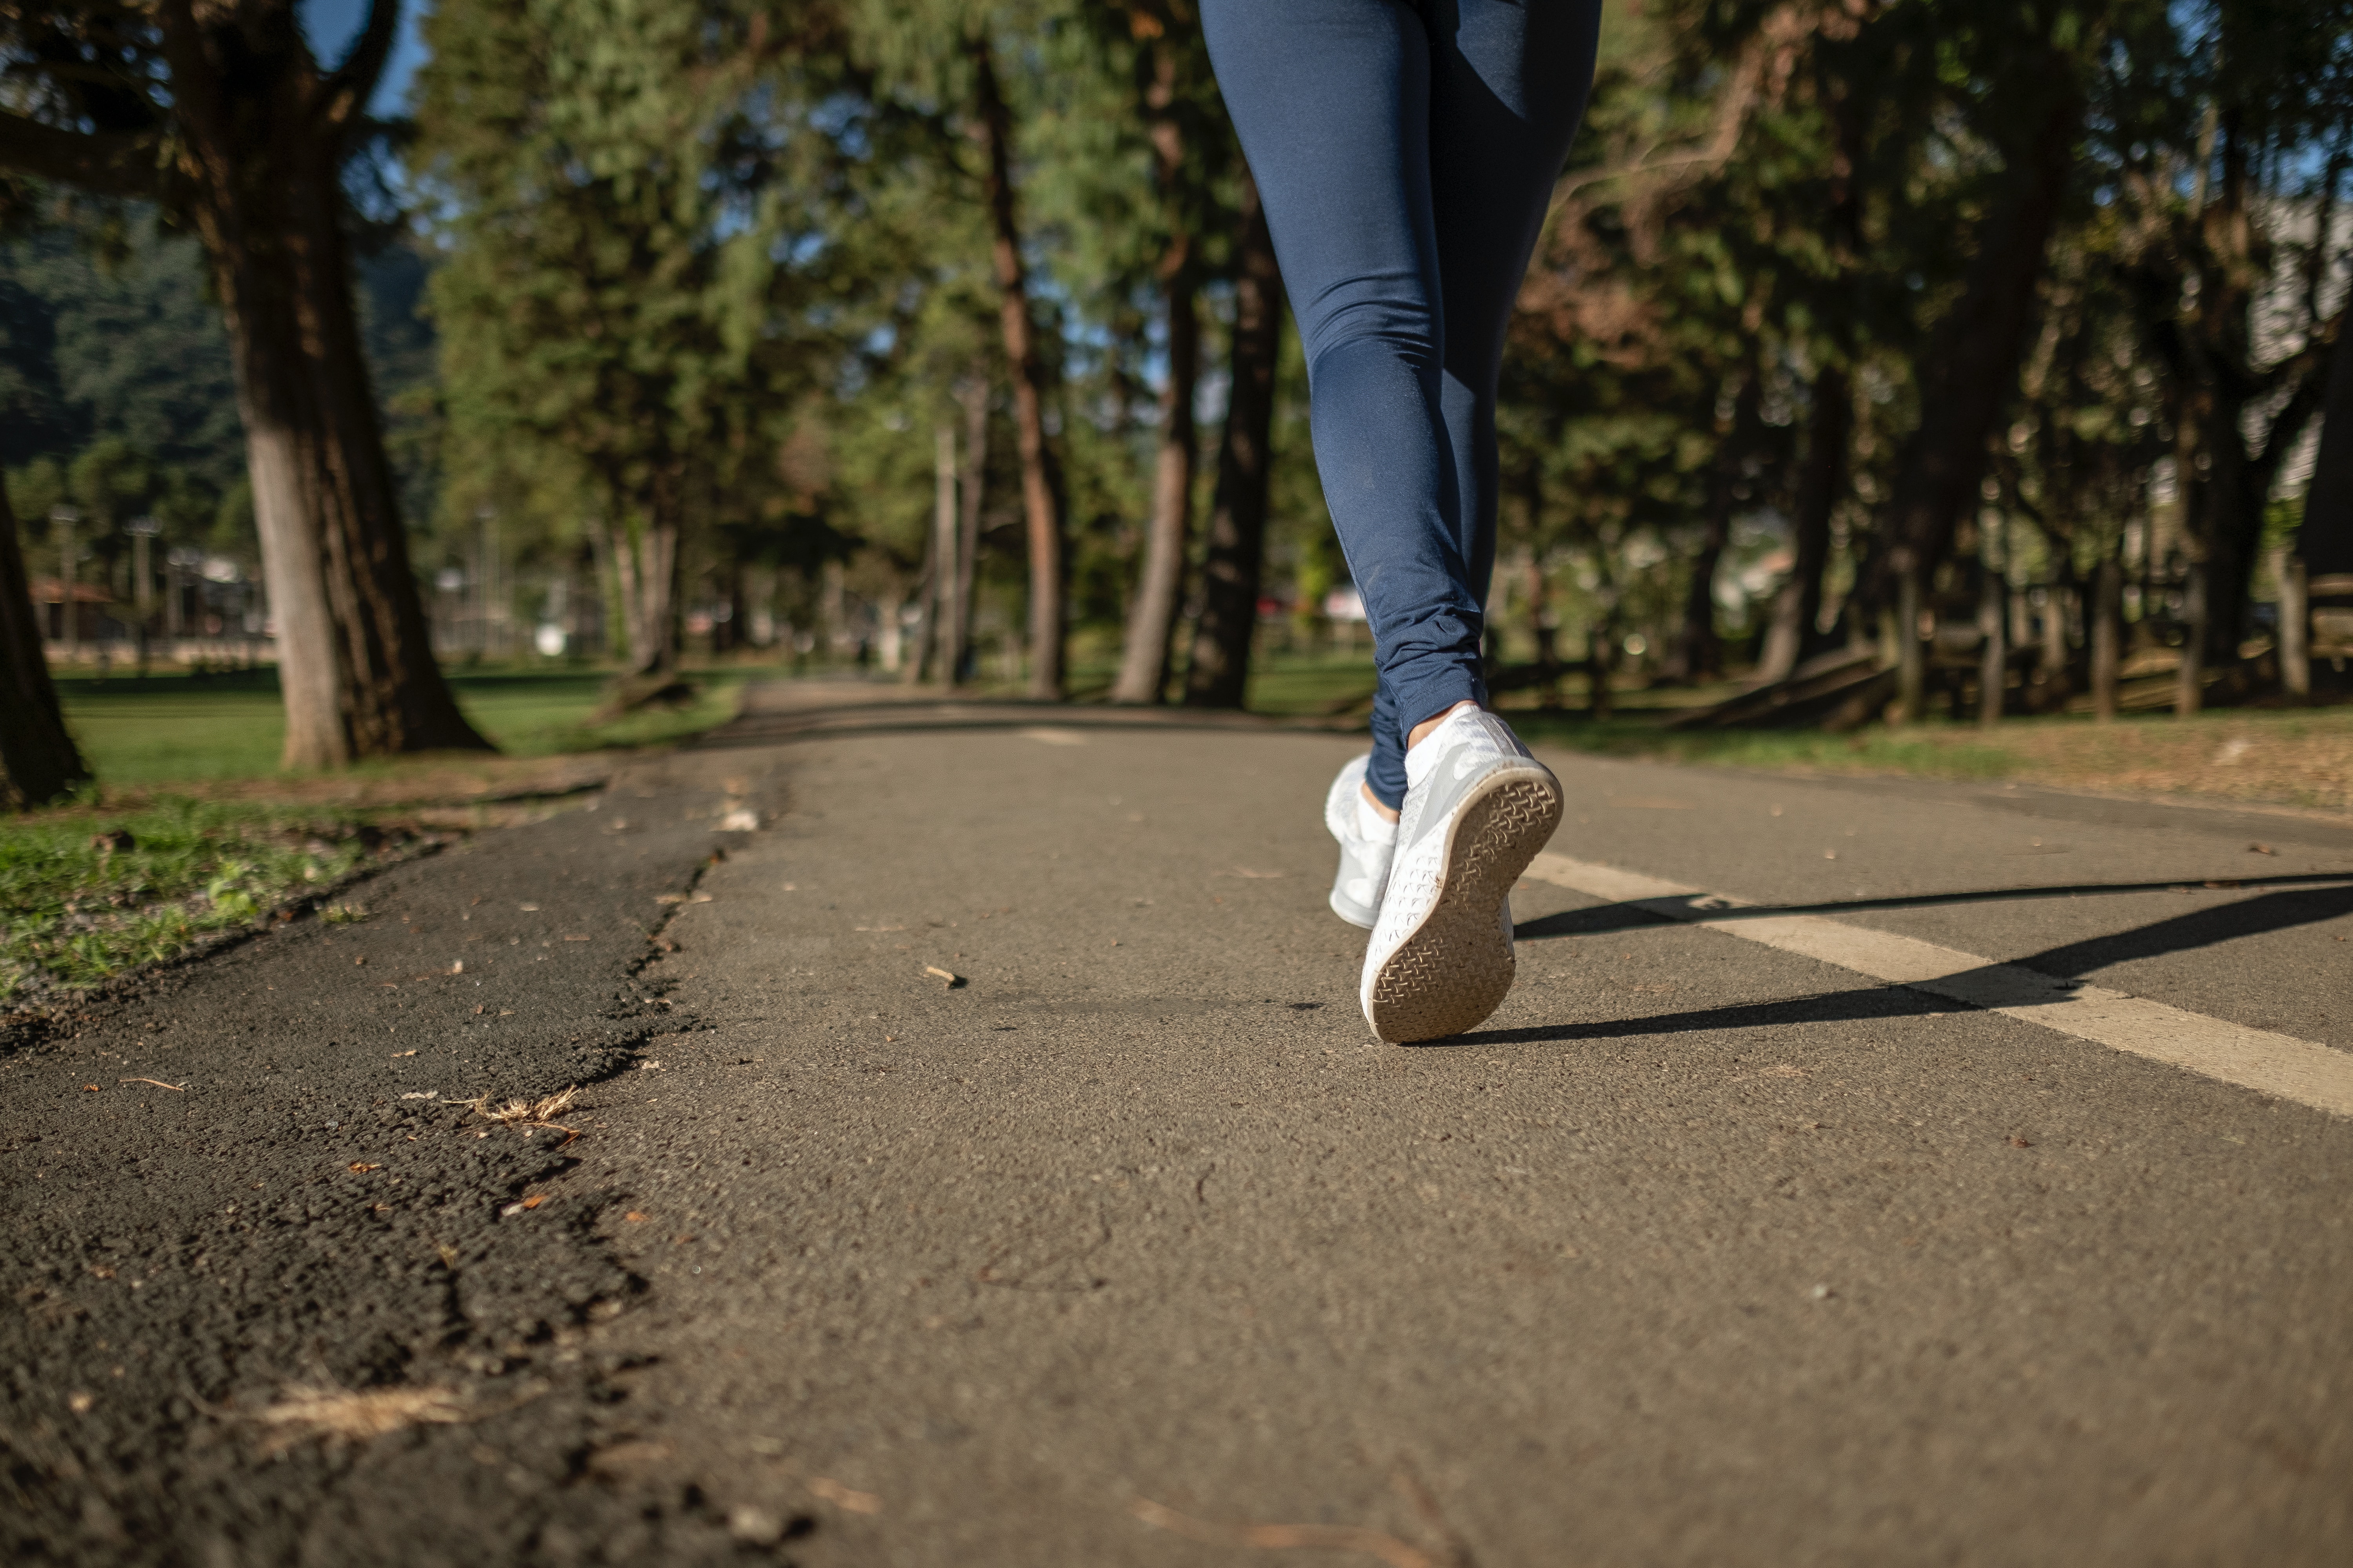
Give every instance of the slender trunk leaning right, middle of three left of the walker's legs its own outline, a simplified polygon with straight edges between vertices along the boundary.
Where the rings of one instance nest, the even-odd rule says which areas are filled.
[[[1167,701],[1169,651],[1176,644],[1176,611],[1184,602],[1184,555],[1193,531],[1193,390],[1200,381],[1200,315],[1193,235],[1176,197],[1184,176],[1184,132],[1169,115],[1176,96],[1176,52],[1165,42],[1153,52],[1151,115],[1153,176],[1169,214],[1169,247],[1160,256],[1160,289],[1167,296],[1169,367],[1160,390],[1160,451],[1153,456],[1153,517],[1144,536],[1144,571],[1127,607],[1127,646],[1113,703]]]

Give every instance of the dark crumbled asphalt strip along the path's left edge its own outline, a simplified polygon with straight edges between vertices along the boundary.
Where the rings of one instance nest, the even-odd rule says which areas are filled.
[[[0,1559],[774,1554],[694,1488],[591,1472],[628,1429],[628,1368],[586,1326],[645,1291],[595,1234],[614,1194],[504,1213],[576,1159],[459,1103],[593,1086],[689,1025],[640,971],[675,912],[656,893],[692,891],[713,858],[685,811],[708,797],[480,835],[381,872],[365,924],[278,926],[0,1058],[0,1190],[21,1194],[0,1229]],[[624,813],[645,825],[616,835]],[[452,952],[473,961],[449,973]],[[421,1088],[386,1081],[386,1058]],[[118,1084],[148,1072],[186,1100]],[[567,1124],[593,1138],[586,1100]],[[471,1420],[275,1446],[259,1410],[294,1387],[452,1389]]]

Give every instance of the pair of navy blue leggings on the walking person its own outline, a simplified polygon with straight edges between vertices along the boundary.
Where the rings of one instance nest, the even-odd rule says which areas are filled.
[[[1308,357],[1315,470],[1405,733],[1485,701],[1494,383],[1593,85],[1600,0],[1202,0]]]

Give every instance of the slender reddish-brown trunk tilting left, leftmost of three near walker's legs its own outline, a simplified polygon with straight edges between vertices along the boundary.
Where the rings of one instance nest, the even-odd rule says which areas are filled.
[[[1021,510],[1028,517],[1031,550],[1031,672],[1028,693],[1059,703],[1064,696],[1064,515],[1061,477],[1045,440],[1045,393],[1054,369],[1038,353],[1038,327],[1028,308],[1028,275],[1021,263],[1021,226],[1014,212],[1014,129],[1005,94],[998,89],[998,66],[988,40],[965,40],[972,56],[979,129],[988,143],[988,221],[991,254],[998,273],[998,301],[1005,322],[1005,360],[1014,371],[1014,433],[1021,447]]]

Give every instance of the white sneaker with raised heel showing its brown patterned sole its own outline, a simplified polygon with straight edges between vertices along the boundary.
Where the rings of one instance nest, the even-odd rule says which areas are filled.
[[[1560,780],[1504,719],[1457,708],[1405,755],[1405,813],[1358,999],[1391,1044],[1461,1034],[1511,992],[1511,884],[1560,825]]]

